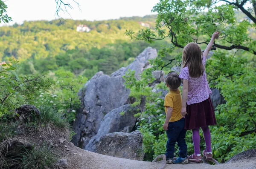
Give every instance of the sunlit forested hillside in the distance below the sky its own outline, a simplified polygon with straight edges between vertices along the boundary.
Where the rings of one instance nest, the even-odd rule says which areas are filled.
[[[119,20],[30,21],[0,27],[0,60],[21,61],[22,74],[55,71],[60,67],[91,77],[98,71],[111,74],[149,46],[132,42],[125,30],[153,27],[155,15]],[[79,27],[78,27],[79,26]],[[84,32],[82,32],[84,31]],[[152,44],[157,49],[166,43]]]

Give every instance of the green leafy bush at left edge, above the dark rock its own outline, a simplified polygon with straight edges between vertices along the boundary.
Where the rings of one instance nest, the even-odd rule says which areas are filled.
[[[17,75],[17,66],[18,62],[14,59],[0,65],[0,117],[21,104],[35,103],[38,90],[49,90],[54,85],[44,75]]]

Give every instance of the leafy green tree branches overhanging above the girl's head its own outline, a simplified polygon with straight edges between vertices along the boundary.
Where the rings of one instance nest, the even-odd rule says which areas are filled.
[[[249,5],[253,6],[252,3],[251,1]],[[137,33],[127,31],[126,35],[149,43],[168,38],[174,46],[183,48],[193,41],[208,44],[212,32],[219,31],[221,37],[214,44],[215,47],[227,50],[243,49],[256,54],[255,37],[253,39],[251,36],[255,29],[255,16],[246,13],[241,1],[224,1],[220,4],[209,0],[160,0],[152,9],[158,13],[155,28],[141,29]],[[236,20],[235,11],[238,8],[247,15],[242,21]]]

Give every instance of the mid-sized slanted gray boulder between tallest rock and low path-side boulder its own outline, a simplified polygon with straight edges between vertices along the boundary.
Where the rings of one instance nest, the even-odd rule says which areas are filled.
[[[96,144],[99,142],[100,137],[108,133],[121,132],[131,132],[136,123],[136,114],[138,111],[131,107],[129,104],[121,106],[119,108],[113,109],[109,112],[103,120],[97,134],[90,139],[90,142],[85,147],[86,150],[95,152]]]

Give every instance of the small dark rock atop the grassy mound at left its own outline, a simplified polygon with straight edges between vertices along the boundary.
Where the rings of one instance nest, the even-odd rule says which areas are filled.
[[[21,105],[19,108],[14,110],[14,113],[16,114],[16,120],[23,120],[25,123],[29,120],[32,114],[40,115],[39,110],[30,104]]]

